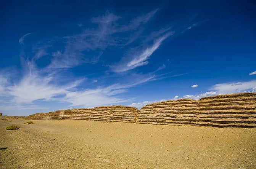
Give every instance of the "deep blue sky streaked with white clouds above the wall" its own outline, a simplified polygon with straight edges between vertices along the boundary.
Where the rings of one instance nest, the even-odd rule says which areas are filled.
[[[0,112],[256,92],[253,1],[1,1]]]

